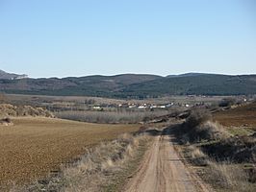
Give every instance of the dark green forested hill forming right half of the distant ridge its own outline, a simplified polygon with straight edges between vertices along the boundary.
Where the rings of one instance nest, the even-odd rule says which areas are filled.
[[[256,75],[201,74],[162,78],[146,84],[131,84],[126,95],[246,95],[256,94]]]

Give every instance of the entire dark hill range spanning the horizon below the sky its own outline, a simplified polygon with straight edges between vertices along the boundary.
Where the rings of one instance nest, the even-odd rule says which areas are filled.
[[[166,95],[256,94],[256,75],[187,73],[177,76],[121,74],[40,79],[0,79],[0,91],[16,94],[146,98]]]

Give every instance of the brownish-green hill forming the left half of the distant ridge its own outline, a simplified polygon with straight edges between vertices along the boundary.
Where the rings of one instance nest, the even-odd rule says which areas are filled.
[[[0,91],[17,94],[115,97],[126,86],[142,84],[161,78],[161,76],[156,75],[122,74],[115,76],[68,77],[63,79],[0,80]]]

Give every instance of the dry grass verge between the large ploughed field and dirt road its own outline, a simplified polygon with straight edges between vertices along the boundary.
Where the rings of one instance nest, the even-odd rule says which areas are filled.
[[[141,140],[146,137],[132,137],[124,134],[115,141],[100,145],[85,156],[78,166],[64,170],[66,192],[102,191],[112,184],[112,177],[121,172],[125,163],[137,155]]]

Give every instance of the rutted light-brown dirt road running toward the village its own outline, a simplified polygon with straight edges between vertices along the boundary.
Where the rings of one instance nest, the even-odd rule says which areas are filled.
[[[128,182],[126,192],[209,191],[189,172],[173,148],[168,135],[158,135],[145,155],[138,173]]]

